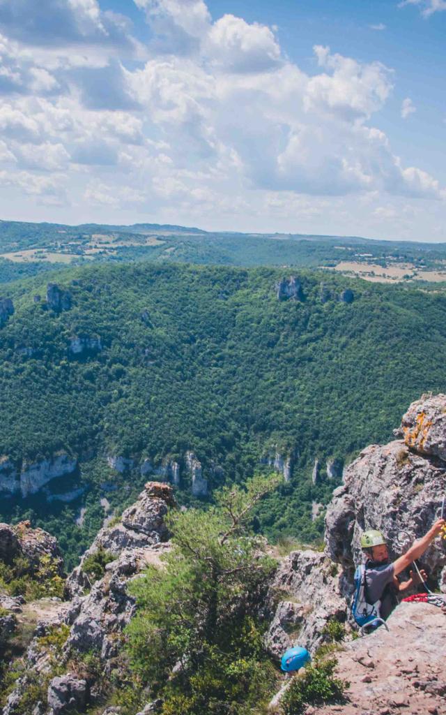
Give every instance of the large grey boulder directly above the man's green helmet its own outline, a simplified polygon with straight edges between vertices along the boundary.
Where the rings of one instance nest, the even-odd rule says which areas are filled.
[[[382,531],[391,558],[424,536],[439,514],[445,493],[445,468],[413,453],[402,440],[371,445],[344,473],[344,485],[333,493],[326,517],[325,542],[333,561],[352,570],[362,561],[360,533]],[[420,558],[438,581],[446,565],[439,540]]]

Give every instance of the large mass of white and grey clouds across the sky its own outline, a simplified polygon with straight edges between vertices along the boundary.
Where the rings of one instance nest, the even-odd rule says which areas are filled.
[[[153,37],[128,62],[128,23],[96,0],[48,0],[52,38],[48,6],[0,0],[0,172],[18,205],[24,193],[198,223],[333,212],[348,226],[349,201],[371,215],[390,196],[445,197],[373,127],[395,81],[380,62],[317,45],[308,74],[268,26],[214,21],[203,0],[135,1]]]

